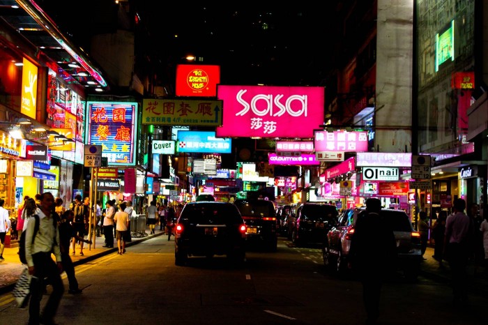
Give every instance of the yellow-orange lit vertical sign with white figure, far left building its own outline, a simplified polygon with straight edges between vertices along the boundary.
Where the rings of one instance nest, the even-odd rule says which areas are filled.
[[[31,61],[22,59],[22,100],[20,112],[36,119],[37,73],[38,69]]]

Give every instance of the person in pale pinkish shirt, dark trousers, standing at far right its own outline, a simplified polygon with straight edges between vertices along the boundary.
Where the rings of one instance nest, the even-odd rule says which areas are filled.
[[[445,221],[444,250],[452,273],[452,294],[454,306],[464,306],[468,303],[466,291],[466,265],[468,264],[469,245],[468,236],[471,220],[466,214],[464,199],[455,199],[454,212]]]

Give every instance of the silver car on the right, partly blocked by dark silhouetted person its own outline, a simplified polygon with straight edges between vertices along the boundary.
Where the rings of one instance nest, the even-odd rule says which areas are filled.
[[[359,213],[365,213],[365,209],[346,209],[341,214],[337,225],[330,229],[326,236],[322,248],[323,264],[334,273],[344,273],[347,269],[351,236],[354,234],[354,225]],[[410,218],[404,211],[381,209],[380,214],[390,223],[395,233],[399,268],[404,272],[405,278],[415,280],[420,272],[422,259],[420,234],[413,230]]]

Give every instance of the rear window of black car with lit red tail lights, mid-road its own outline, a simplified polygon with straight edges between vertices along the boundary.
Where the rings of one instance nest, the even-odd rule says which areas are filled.
[[[181,211],[181,221],[206,224],[236,224],[243,222],[234,204],[186,204]]]

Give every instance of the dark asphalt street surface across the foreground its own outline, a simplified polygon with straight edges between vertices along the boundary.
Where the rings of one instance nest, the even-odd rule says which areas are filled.
[[[362,287],[325,272],[319,247],[280,238],[277,252],[247,252],[243,268],[224,257],[174,265],[174,243],[157,236],[76,267],[83,293],[67,293],[59,324],[363,324]],[[48,287],[48,292],[50,288]],[[44,296],[41,306],[45,304]],[[488,298],[471,294],[452,308],[445,283],[419,278],[383,287],[379,324],[487,324]],[[0,296],[1,324],[26,324],[10,293]]]

